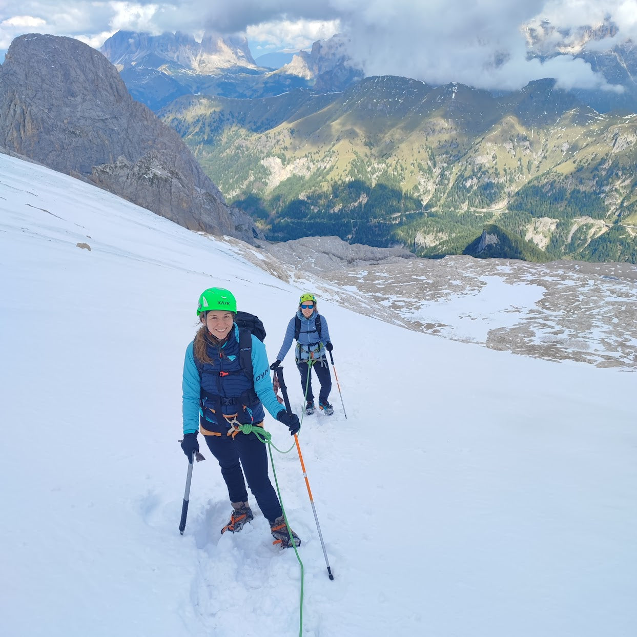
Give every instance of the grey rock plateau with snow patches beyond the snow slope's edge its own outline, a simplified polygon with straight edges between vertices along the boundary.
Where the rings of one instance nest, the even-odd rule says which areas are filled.
[[[272,275],[385,322],[534,358],[637,369],[633,264],[419,259],[337,237],[260,245],[268,254],[242,245]]]

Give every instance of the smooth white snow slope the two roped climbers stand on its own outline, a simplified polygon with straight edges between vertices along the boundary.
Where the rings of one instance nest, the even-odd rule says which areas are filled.
[[[273,359],[299,289],[223,240],[6,155],[0,268],[3,634],[299,634],[294,552],[271,545],[252,496],[254,522],[220,535],[229,503],[205,447],[177,529],[199,293],[233,290]],[[302,634],[637,634],[634,373],[319,308],[347,419],[334,383],[334,416],[306,417],[299,441],[334,581],[296,450],[274,452],[304,540]],[[292,354],[283,364],[298,409]]]

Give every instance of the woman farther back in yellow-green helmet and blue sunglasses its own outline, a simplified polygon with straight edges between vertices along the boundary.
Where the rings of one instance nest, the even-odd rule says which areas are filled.
[[[329,404],[329,392],[332,390],[332,377],[325,357],[326,350],[331,352],[333,345],[329,338],[329,329],[324,316],[317,311],[317,299],[310,292],[301,294],[299,309],[296,315],[287,324],[287,330],[283,337],[283,345],[279,350],[276,361],[270,369],[276,369],[285,358],[292,341],[296,338],[295,361],[301,374],[301,387],[306,399],[305,413],[309,416],[315,412],[314,392],[312,391],[311,369],[314,369],[320,392],[318,393],[318,407],[328,416],[334,413],[334,408]],[[307,393],[306,393],[307,389]]]

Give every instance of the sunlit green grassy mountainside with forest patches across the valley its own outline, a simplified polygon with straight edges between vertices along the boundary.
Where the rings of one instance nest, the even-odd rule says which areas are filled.
[[[498,97],[371,77],[338,94],[181,97],[161,116],[271,240],[438,257],[475,254],[487,229],[501,241],[484,255],[637,262],[637,115],[599,115],[552,80]]]

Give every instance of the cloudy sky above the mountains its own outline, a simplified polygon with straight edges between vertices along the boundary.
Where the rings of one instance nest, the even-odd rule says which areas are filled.
[[[99,48],[120,29],[241,33],[254,57],[308,49],[341,32],[366,75],[486,89],[515,89],[555,77],[564,88],[593,89],[610,87],[573,54],[582,47],[608,49],[635,41],[637,0],[4,0],[0,56],[23,33],[71,36]],[[541,64],[529,59],[532,50],[557,57]]]

